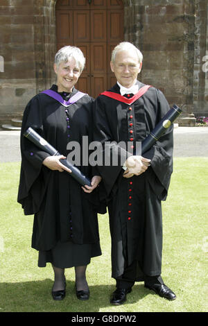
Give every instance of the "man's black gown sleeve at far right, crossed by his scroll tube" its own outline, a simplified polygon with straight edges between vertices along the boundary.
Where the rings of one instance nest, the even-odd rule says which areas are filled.
[[[157,90],[156,123],[164,117],[168,110],[170,107],[164,94]],[[147,177],[153,191],[159,200],[166,200],[173,172],[173,125],[156,141],[149,153],[144,153],[143,156],[151,159]]]

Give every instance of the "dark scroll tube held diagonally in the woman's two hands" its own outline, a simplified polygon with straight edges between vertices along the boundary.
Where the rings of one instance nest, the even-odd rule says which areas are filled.
[[[41,148],[44,152],[49,153],[51,156],[61,155],[51,144],[48,143],[44,138],[42,138],[33,128],[29,127],[26,132],[24,132],[24,137],[33,142],[37,147]],[[71,170],[71,177],[73,177],[80,185],[87,185],[91,187],[91,181],[79,170],[76,166],[71,165],[66,159],[60,160],[60,162],[67,166]]]

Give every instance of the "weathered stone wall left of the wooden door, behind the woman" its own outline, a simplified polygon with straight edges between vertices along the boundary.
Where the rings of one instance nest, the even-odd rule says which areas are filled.
[[[17,117],[54,79],[54,6],[51,0],[0,2],[0,55],[4,60],[0,72],[1,120]]]

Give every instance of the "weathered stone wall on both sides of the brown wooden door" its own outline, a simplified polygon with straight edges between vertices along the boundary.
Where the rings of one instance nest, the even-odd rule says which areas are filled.
[[[56,0],[1,0],[0,118],[23,112],[54,81]],[[125,40],[144,54],[140,80],[208,116],[207,0],[123,0]],[[208,59],[208,58],[207,58]],[[207,60],[208,62],[208,60]],[[204,66],[205,67],[205,66]],[[208,68],[208,64],[206,66]],[[207,69],[208,70],[208,69]]]

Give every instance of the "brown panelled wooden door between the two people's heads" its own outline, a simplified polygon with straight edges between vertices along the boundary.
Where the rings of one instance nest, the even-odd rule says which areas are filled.
[[[78,46],[86,67],[76,88],[98,96],[115,83],[110,55],[123,41],[122,0],[58,0],[55,6],[57,50]]]

